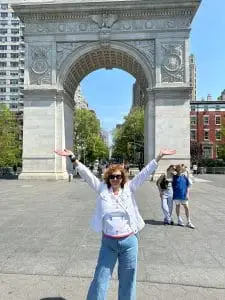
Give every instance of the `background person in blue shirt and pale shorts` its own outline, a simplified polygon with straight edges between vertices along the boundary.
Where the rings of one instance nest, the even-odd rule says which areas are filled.
[[[195,226],[192,224],[190,219],[190,210],[188,206],[189,198],[189,188],[191,182],[187,176],[185,176],[185,170],[182,165],[176,166],[177,174],[173,176],[173,200],[176,204],[176,214],[178,218],[178,226],[184,226],[184,222],[180,216],[180,206],[182,205],[185,210],[185,215],[187,217],[187,227],[194,229]]]

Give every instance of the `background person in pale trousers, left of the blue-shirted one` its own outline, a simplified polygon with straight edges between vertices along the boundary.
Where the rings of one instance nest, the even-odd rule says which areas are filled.
[[[170,165],[166,173],[163,173],[156,181],[161,198],[161,207],[164,215],[164,225],[173,225],[173,175],[176,174],[174,165]]]

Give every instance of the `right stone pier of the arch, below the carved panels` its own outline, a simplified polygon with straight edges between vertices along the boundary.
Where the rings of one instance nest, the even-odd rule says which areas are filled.
[[[190,88],[159,87],[148,89],[145,101],[145,164],[161,148],[176,149],[165,156],[156,171],[164,173],[171,164],[190,167]]]

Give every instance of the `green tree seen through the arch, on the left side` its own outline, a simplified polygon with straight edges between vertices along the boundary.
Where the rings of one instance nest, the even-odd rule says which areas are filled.
[[[108,158],[109,149],[100,137],[100,122],[95,113],[88,109],[74,112],[74,152],[84,162]]]

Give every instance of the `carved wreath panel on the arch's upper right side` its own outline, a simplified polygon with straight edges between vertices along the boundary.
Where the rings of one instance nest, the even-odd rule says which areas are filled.
[[[161,44],[161,82],[185,81],[184,42]]]

